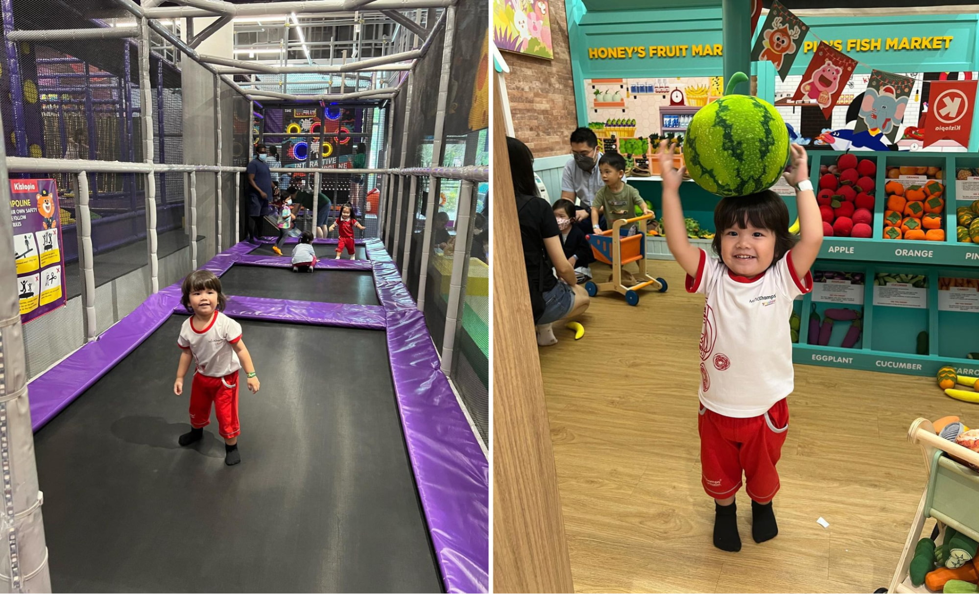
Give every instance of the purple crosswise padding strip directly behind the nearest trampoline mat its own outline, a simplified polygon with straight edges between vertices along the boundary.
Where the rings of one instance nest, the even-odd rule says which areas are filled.
[[[190,315],[182,305],[174,307],[173,313]],[[364,330],[384,330],[386,327],[384,307],[377,305],[318,303],[315,301],[229,295],[228,305],[224,308],[224,313],[232,318],[265,322],[341,326]]]

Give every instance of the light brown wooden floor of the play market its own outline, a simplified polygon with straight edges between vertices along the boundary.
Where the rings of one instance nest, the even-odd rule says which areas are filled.
[[[979,406],[945,396],[933,379],[797,365],[774,500],[779,534],[751,539],[742,489],[743,547],[720,551],[698,456],[703,297],[683,291],[674,261],[651,261],[650,271],[668,293],[644,292],[635,307],[617,294],[593,297],[582,340],[558,328],[559,343],[539,349],[576,590],[886,587],[925,481],[909,425],[954,414],[976,427]]]

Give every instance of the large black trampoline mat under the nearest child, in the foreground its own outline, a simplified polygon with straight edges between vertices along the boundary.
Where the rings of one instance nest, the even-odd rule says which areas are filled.
[[[261,389],[227,467],[213,415],[177,444],[184,319],[34,435],[54,591],[442,591],[384,332],[244,320]]]

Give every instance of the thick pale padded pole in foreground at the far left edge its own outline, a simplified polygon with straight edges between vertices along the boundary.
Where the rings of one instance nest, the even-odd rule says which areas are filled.
[[[4,1],[5,9],[9,1]],[[4,20],[7,20],[5,10]],[[9,46],[8,46],[9,48]],[[16,105],[16,104],[15,104]],[[3,123],[0,122],[0,138]],[[7,150],[0,142],[0,474],[3,512],[0,524],[7,539],[0,576],[9,592],[50,592],[48,549],[41,517],[43,498],[37,484],[34,435],[24,369],[23,328],[14,262],[14,225],[10,207]]]

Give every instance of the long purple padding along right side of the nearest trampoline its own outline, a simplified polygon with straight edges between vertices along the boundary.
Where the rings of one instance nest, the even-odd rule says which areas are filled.
[[[489,462],[417,309],[388,311],[388,351],[415,484],[446,592],[489,590]]]

